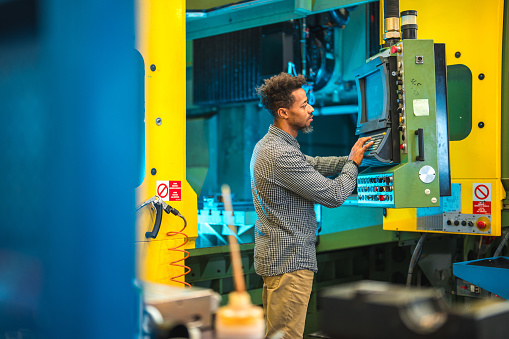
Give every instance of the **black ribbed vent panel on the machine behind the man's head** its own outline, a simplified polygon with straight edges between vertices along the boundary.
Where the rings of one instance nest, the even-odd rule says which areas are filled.
[[[194,104],[257,100],[263,79],[288,71],[299,55],[295,32],[285,22],[194,40]]]

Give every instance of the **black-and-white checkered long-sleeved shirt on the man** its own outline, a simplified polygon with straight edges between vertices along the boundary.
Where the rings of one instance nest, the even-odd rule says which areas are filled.
[[[335,178],[326,178],[341,173]],[[250,164],[258,216],[255,271],[274,276],[296,270],[318,271],[314,204],[338,207],[352,193],[357,166],[347,157],[309,157],[298,141],[271,125],[256,144]]]

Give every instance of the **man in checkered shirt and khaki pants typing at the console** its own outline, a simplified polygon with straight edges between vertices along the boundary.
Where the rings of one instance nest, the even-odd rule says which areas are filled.
[[[284,332],[302,338],[316,263],[314,204],[338,207],[352,193],[364,152],[373,144],[360,138],[348,157],[302,154],[299,131],[312,131],[304,76],[281,73],[257,88],[273,116],[269,132],[251,158],[255,225],[255,270],[263,277],[267,337]],[[335,179],[328,176],[339,175]]]

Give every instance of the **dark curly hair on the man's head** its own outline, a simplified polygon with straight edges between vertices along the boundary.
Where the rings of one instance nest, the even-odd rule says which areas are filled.
[[[256,94],[260,97],[260,104],[276,118],[279,108],[290,108],[295,102],[293,91],[307,84],[303,75],[292,77],[282,72],[270,79],[265,79],[264,84],[256,88]]]

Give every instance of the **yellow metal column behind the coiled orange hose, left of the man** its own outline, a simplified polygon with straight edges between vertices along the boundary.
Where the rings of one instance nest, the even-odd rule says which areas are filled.
[[[198,236],[197,197],[186,181],[186,37],[185,0],[145,0],[137,3],[136,48],[145,62],[145,179],[136,189],[136,203],[156,195],[157,181],[178,181],[180,201],[167,203],[187,219],[185,248],[194,248]],[[161,119],[161,124],[156,119]],[[151,170],[155,169],[155,175]],[[137,277],[176,286],[171,278],[184,268],[171,265],[183,257],[171,250],[185,242],[183,220],[163,212],[156,239],[145,232],[154,226],[155,214],[147,206],[137,213]],[[181,263],[180,263],[181,264]],[[183,280],[183,279],[180,279]]]

